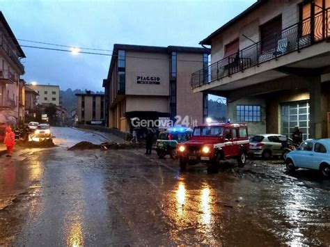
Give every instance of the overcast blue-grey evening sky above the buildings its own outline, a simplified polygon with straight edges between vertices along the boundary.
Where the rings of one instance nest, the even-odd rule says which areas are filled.
[[[192,46],[256,0],[0,0],[16,38],[60,45],[113,49],[113,44]],[[36,45],[19,41],[21,45]],[[102,90],[110,56],[23,47],[30,83],[61,89]],[[109,51],[102,51],[111,53]]]

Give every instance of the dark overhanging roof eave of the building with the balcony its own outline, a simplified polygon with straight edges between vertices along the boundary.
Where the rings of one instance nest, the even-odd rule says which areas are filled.
[[[240,19],[246,17],[246,15],[249,15],[249,13],[253,12],[260,6],[262,6],[264,3],[266,3],[268,0],[257,0],[256,3],[253,3],[249,8],[246,8],[242,13],[234,17],[233,19],[230,19],[229,22],[221,26],[219,29],[211,33],[210,35],[207,36],[204,40],[199,42],[200,45],[211,45],[211,40],[214,38],[215,35],[218,35],[219,33],[225,31],[228,29],[230,26],[233,26],[236,22],[238,22]]]

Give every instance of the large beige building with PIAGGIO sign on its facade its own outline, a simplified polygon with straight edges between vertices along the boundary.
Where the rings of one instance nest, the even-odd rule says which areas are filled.
[[[208,54],[208,49],[196,47],[114,45],[103,81],[107,126],[132,132],[132,119],[175,120],[175,116],[181,120],[178,124],[185,116],[189,123],[203,122],[207,95],[194,94],[188,86],[191,72],[207,66]]]

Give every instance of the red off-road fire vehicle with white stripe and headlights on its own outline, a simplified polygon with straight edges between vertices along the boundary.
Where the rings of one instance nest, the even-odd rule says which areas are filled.
[[[223,159],[237,159],[239,166],[246,163],[249,136],[244,124],[218,123],[194,128],[189,141],[178,145],[180,168],[202,163],[212,171]]]

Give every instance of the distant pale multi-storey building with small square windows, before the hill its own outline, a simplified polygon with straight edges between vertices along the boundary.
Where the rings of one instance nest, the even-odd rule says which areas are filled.
[[[37,104],[49,105],[55,104],[60,105],[60,87],[56,85],[32,85],[29,87],[38,93]]]

